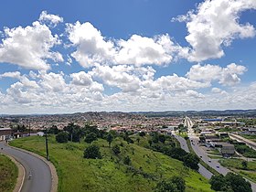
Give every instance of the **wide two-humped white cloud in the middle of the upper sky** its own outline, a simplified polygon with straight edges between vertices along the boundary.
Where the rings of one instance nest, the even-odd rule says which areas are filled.
[[[187,57],[187,48],[181,48],[166,35],[142,37],[133,35],[127,40],[109,39],[91,23],[67,25],[69,40],[77,48],[71,56],[84,68],[99,63],[108,65],[133,64],[167,65],[174,59]]]

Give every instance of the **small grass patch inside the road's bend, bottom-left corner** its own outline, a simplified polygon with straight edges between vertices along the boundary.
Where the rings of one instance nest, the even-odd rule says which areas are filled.
[[[16,165],[5,155],[0,155],[0,191],[11,192],[16,186]]]

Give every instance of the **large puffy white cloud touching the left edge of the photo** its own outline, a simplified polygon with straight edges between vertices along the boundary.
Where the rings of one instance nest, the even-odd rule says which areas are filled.
[[[16,64],[25,69],[50,69],[47,59],[63,61],[58,52],[50,48],[59,44],[45,25],[34,22],[32,26],[5,28],[5,38],[0,44],[0,62]]]

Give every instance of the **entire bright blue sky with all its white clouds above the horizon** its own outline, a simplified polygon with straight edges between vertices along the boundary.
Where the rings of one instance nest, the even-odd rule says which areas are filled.
[[[2,114],[256,109],[255,0],[1,7]]]

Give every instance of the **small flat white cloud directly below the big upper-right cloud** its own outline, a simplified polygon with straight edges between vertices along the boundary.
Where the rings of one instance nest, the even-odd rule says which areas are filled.
[[[246,67],[231,63],[227,68],[221,68],[218,65],[194,65],[187,72],[189,80],[214,81],[219,80],[220,84],[232,86],[240,82],[239,75],[246,71]]]

